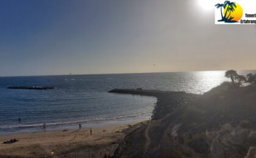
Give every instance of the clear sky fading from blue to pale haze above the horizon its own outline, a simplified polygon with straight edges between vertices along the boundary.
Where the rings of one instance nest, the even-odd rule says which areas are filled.
[[[0,76],[255,69],[256,27],[215,25],[205,5],[2,0]]]

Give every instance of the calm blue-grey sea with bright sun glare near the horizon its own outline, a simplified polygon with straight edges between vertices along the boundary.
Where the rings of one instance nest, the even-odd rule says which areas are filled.
[[[226,80],[224,71],[0,77],[0,134],[40,131],[43,123],[48,129],[66,129],[77,128],[79,123],[95,127],[148,120],[156,98],[107,91],[143,88],[202,94]],[[7,89],[9,86],[56,89]]]

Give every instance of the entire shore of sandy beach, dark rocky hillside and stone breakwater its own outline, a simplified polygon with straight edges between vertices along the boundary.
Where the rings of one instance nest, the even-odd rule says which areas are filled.
[[[93,136],[85,128],[5,137],[20,141],[1,144],[0,157],[224,157],[225,151],[230,157],[253,156],[255,88],[222,83],[203,95],[123,89],[122,94],[154,93],[151,120],[93,129]]]

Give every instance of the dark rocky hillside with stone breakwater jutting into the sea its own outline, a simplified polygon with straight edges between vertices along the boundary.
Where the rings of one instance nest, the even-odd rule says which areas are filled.
[[[157,97],[152,120],[119,143],[114,157],[256,156],[256,87],[223,83],[203,95],[118,89]]]

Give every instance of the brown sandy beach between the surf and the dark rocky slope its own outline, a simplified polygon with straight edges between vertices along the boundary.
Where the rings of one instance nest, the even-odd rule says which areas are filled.
[[[92,134],[90,128],[82,128],[1,136],[0,157],[103,157],[105,153],[112,155],[126,135],[123,130],[129,126],[126,124],[92,128]],[[2,143],[14,138],[19,141]]]

